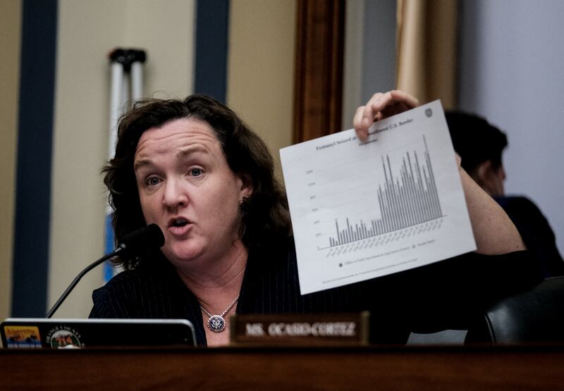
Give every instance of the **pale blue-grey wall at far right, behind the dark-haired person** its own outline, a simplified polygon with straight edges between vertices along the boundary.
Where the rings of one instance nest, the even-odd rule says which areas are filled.
[[[462,1],[460,108],[508,135],[506,192],[544,212],[564,254],[564,1]]]

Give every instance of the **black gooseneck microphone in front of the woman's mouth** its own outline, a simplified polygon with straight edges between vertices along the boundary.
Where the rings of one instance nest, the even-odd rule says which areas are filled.
[[[154,249],[160,249],[163,247],[164,244],[164,235],[157,224],[149,224],[147,227],[140,228],[133,232],[128,233],[125,235],[121,242],[119,242],[118,247],[114,249],[113,252],[102,256],[102,258],[98,259],[90,263],[83,271],[78,273],[75,277],[71,285],[68,285],[65,292],[61,294],[59,300],[56,301],[54,306],[51,307],[49,312],[47,312],[46,318],[51,318],[55,311],[59,309],[59,306],[63,304],[63,301],[66,299],[69,293],[74,289],[74,287],[80,281],[80,278],[84,277],[86,273],[91,271],[93,268],[98,266],[100,263],[107,261],[108,259],[118,255],[118,254],[142,254],[144,252],[148,252]]]

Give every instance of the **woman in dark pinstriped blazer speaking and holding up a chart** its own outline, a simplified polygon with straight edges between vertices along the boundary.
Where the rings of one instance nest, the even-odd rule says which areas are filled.
[[[355,115],[357,135],[366,139],[374,120],[417,104],[403,92],[375,94]],[[188,318],[200,345],[226,345],[226,319],[235,313],[363,310],[372,312],[373,342],[405,342],[411,328],[442,314],[453,298],[462,303],[448,316],[457,325],[472,309],[533,280],[518,252],[524,246],[517,230],[460,170],[478,252],[516,253],[467,254],[300,295],[286,198],[272,158],[233,111],[208,97],[135,104],[120,120],[116,156],[104,171],[116,240],[157,223],[166,242],[158,254],[119,259],[126,270],[94,291],[90,316]],[[495,279],[508,265],[515,275],[500,286]]]

